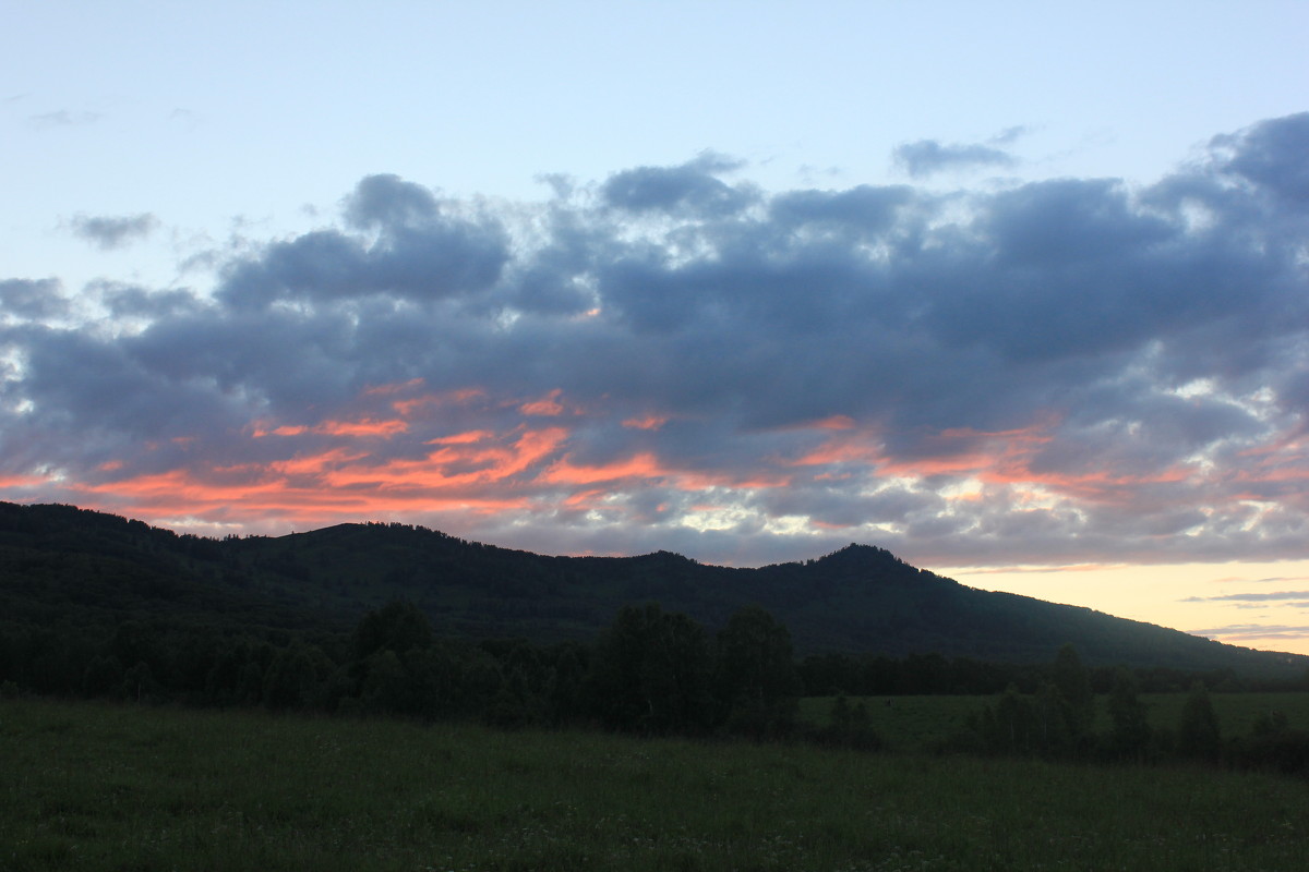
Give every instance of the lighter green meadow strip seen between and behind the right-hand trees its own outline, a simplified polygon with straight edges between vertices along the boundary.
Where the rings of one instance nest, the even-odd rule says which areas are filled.
[[[1182,716],[1185,693],[1143,693],[1147,715],[1155,728],[1175,729]],[[1225,737],[1245,736],[1261,715],[1280,711],[1292,728],[1309,729],[1309,693],[1215,693],[1210,696]],[[833,697],[806,697],[800,701],[802,720],[825,726],[830,720]],[[873,731],[893,750],[923,750],[950,737],[969,715],[994,702],[991,697],[851,697],[863,701]],[[1105,698],[1096,702],[1096,729],[1109,729]]]

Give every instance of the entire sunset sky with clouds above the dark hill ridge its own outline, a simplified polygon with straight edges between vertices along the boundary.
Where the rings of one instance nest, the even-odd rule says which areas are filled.
[[[24,3],[0,499],[1309,654],[1309,4]]]

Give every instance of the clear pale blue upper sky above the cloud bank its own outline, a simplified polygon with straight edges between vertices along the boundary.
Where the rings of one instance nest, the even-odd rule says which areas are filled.
[[[0,31],[5,275],[171,278],[363,175],[541,199],[712,149],[768,188],[903,180],[1011,128],[1024,178],[1151,182],[1304,109],[1306,3],[29,3]],[[77,214],[151,213],[149,259]],[[168,243],[168,244],[165,244]],[[192,278],[192,281],[203,281]]]

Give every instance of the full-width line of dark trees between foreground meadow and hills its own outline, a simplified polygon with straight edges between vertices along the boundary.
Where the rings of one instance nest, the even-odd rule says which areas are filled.
[[[1190,684],[1175,729],[1151,727],[1140,694]],[[264,707],[500,727],[601,727],[640,735],[808,737],[880,748],[860,696],[979,694],[946,752],[1158,762],[1174,758],[1309,773],[1309,735],[1267,715],[1223,737],[1211,690],[1227,672],[1085,667],[1072,646],[1050,664],[967,658],[795,656],[788,629],[759,607],[716,633],[660,605],[628,605],[589,643],[440,638],[397,600],[350,633],[233,631],[164,618],[109,631],[0,630],[0,696],[34,693],[192,706]],[[1289,689],[1289,688],[1285,688]],[[802,696],[834,697],[826,726],[798,722]],[[1097,728],[1097,696],[1107,729]],[[855,702],[851,702],[855,698]],[[1105,720],[1105,719],[1098,719]]]

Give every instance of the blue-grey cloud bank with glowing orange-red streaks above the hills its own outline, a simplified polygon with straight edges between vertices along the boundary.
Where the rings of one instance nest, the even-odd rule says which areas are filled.
[[[1147,187],[745,175],[373,175],[203,290],[3,278],[0,497],[744,565],[1304,557],[1309,114]]]

